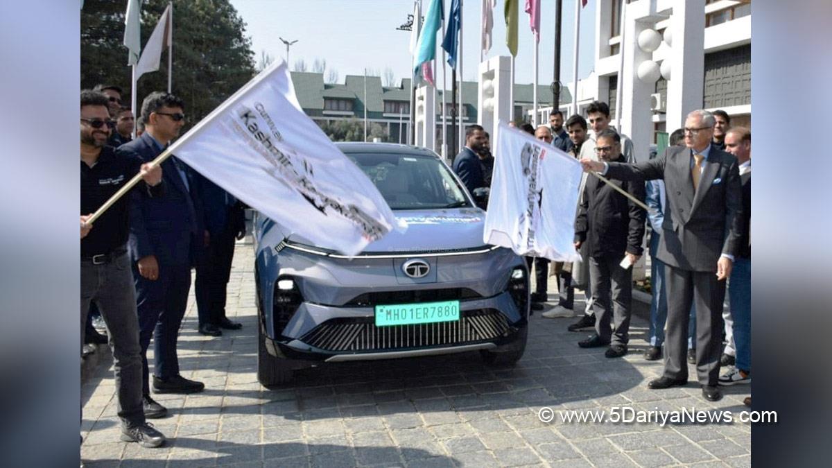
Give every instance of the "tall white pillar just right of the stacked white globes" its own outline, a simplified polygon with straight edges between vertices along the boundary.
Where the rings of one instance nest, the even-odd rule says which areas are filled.
[[[665,60],[671,61],[667,82],[667,132],[685,126],[688,112],[701,109],[705,86],[705,2],[673,3],[673,46]]]

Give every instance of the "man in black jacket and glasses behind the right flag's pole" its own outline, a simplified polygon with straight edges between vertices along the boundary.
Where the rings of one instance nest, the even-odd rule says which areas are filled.
[[[600,161],[626,162],[622,156],[621,137],[609,128],[598,132],[595,152]],[[643,182],[612,183],[638,200],[644,200]],[[581,209],[575,222],[575,246],[579,248],[584,242],[587,243],[597,321],[595,335],[579,342],[578,346],[590,348],[610,345],[605,356],[621,357],[626,354],[631,316],[632,265],[641,256],[645,217],[646,212],[641,207],[614,188],[597,177],[587,179]]]

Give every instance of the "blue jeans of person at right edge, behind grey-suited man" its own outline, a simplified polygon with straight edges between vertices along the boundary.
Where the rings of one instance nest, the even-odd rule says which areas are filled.
[[[730,315],[734,320],[736,367],[751,371],[751,259],[737,258],[728,287]]]

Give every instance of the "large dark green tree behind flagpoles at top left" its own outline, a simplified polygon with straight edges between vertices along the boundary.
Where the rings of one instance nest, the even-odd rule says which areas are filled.
[[[167,0],[141,4],[142,46]],[[189,125],[198,122],[255,75],[255,54],[245,22],[229,0],[176,0],[173,15],[173,89],[185,101]],[[131,69],[124,38],[126,2],[86,0],[81,11],[81,86],[115,84],[130,104]],[[137,83],[137,107],[150,92],[167,89],[167,51],[158,72]],[[134,109],[138,114],[141,109]]]

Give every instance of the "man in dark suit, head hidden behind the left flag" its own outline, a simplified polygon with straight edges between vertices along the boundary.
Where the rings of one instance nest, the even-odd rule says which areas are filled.
[[[245,213],[237,199],[198,172],[199,194],[210,235],[204,255],[196,263],[196,310],[199,332],[220,336],[225,330],[239,330],[242,324],[225,316],[225,288],[234,260],[234,241],[245,236]]]

